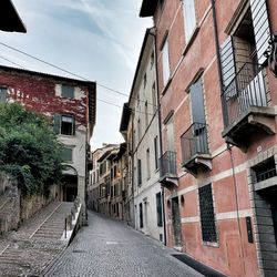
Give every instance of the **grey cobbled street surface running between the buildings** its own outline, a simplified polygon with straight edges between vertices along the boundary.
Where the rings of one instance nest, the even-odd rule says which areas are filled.
[[[42,276],[202,276],[172,257],[173,254],[176,252],[124,223],[89,212],[89,226],[78,233]]]

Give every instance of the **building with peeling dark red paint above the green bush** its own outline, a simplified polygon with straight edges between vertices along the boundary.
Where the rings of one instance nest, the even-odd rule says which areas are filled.
[[[0,102],[18,102],[43,114],[63,144],[64,184],[61,201],[85,202],[86,156],[95,124],[96,85],[63,76],[0,65]]]

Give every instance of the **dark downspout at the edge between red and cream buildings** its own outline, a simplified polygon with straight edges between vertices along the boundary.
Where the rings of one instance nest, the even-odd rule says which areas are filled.
[[[153,28],[156,31],[156,28]],[[157,72],[157,43],[156,43],[156,32],[152,33],[151,35],[154,37],[154,44],[155,44],[155,70],[156,70],[156,100],[157,100],[157,116],[158,116],[158,137],[160,137],[160,153],[161,156],[163,154],[163,138],[162,138],[162,114],[161,114],[161,102],[160,102],[160,82],[158,82],[158,72]],[[167,244],[167,236],[166,236],[166,222],[165,222],[165,198],[164,198],[164,186],[161,185],[162,188],[162,208],[163,208],[163,226],[164,226],[164,245]]]

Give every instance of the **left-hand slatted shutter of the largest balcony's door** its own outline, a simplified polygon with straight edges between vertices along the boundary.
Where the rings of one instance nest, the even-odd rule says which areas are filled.
[[[233,39],[228,37],[220,47],[223,85],[226,88],[236,75]]]

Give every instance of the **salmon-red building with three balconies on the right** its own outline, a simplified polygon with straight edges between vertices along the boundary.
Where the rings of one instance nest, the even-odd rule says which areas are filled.
[[[156,28],[167,245],[277,276],[276,1],[143,0],[140,16]]]

